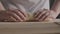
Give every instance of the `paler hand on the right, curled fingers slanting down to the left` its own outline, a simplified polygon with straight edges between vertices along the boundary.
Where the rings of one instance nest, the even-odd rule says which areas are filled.
[[[34,18],[35,20],[38,20],[38,21],[48,21],[48,20],[55,19],[54,14],[56,15],[54,11],[44,9],[36,12],[34,14]]]

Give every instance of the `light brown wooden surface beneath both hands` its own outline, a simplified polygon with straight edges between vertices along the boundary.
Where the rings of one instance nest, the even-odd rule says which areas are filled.
[[[56,20],[59,22],[60,20]],[[54,22],[0,22],[0,34],[60,34]]]

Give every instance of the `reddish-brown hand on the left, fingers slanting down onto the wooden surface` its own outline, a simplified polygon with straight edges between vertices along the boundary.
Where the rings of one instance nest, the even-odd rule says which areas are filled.
[[[22,22],[27,20],[27,14],[20,10],[0,11],[0,21]]]

